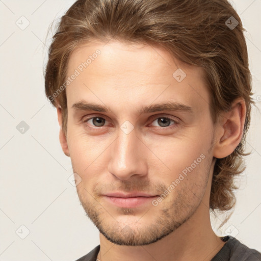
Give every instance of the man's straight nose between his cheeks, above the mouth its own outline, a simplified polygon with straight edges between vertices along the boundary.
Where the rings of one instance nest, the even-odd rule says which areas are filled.
[[[127,180],[134,175],[138,177],[147,174],[146,154],[149,149],[136,136],[135,128],[128,134],[119,129],[118,138],[110,148],[108,171],[112,175]]]

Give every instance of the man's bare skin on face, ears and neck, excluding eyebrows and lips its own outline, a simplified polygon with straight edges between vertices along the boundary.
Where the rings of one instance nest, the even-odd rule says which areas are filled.
[[[66,135],[61,128],[60,142],[75,179],[81,177],[76,189],[84,210],[100,231],[98,258],[211,260],[225,244],[210,222],[215,158],[224,158],[239,144],[244,100],[235,100],[214,125],[203,69],[171,60],[166,50],[147,44],[86,44],[71,54],[67,75],[96,49],[101,54],[66,88],[68,127]],[[172,76],[178,68],[187,74],[181,82]],[[112,112],[72,108],[79,101]],[[192,112],[137,112],[167,101]],[[61,126],[61,108],[57,112]],[[133,127],[128,134],[121,129],[125,121]],[[150,201],[119,207],[103,196],[115,191],[161,195],[200,155],[204,159],[156,206]]]

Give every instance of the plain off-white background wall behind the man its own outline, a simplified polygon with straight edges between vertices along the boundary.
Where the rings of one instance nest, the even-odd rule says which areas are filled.
[[[43,67],[52,33],[46,38],[47,29],[73,2],[0,1],[0,260],[69,261],[99,244],[98,230],[86,217],[76,189],[68,181],[72,174],[70,159],[59,143],[56,110],[44,93]],[[232,4],[248,31],[245,36],[253,97],[260,109],[261,0],[234,0]],[[21,121],[29,125],[24,134],[16,128]],[[217,220],[212,217],[219,236],[230,233],[259,251],[260,130],[260,112],[253,107],[247,142],[252,154],[246,158],[247,169],[238,180],[236,208],[220,230],[217,227],[222,216]]]

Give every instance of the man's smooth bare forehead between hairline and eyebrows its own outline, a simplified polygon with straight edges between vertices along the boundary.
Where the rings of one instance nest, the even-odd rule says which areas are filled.
[[[198,109],[208,106],[203,69],[148,44],[88,43],[70,55],[67,77],[73,74],[77,76],[66,88],[68,107],[79,100],[122,102],[122,106],[128,101],[137,107],[155,99],[171,99]]]

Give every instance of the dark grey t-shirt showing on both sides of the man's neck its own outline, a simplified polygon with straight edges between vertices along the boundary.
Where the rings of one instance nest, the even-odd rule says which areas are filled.
[[[260,252],[248,248],[236,238],[225,236],[221,237],[221,239],[226,242],[226,244],[211,261],[261,261]],[[100,245],[96,246],[91,252],[76,261],[96,261],[99,250]]]

